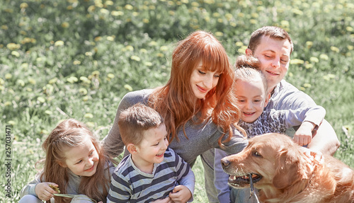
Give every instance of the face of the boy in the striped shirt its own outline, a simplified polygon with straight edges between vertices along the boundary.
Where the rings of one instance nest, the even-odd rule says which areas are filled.
[[[151,166],[154,163],[161,163],[164,160],[167,146],[169,146],[169,141],[167,140],[165,124],[146,130],[144,139],[136,146],[135,165],[139,168],[139,166]]]

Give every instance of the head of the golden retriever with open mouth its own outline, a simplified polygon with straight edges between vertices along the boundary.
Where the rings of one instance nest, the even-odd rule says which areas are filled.
[[[232,187],[285,189],[308,178],[307,158],[290,137],[283,134],[263,134],[249,139],[240,153],[222,158],[222,167],[230,175]]]

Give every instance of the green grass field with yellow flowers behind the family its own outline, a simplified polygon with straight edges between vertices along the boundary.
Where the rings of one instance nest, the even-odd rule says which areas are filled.
[[[326,108],[341,141],[335,156],[354,167],[350,0],[0,4],[0,202],[18,202],[43,157],[40,145],[59,120],[74,117],[103,138],[122,96],[166,83],[176,42],[198,29],[214,33],[234,62],[253,30],[285,28],[295,45],[285,79]],[[207,202],[200,161],[193,171],[195,202]]]

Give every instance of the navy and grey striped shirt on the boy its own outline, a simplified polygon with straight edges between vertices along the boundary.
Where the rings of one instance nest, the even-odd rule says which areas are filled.
[[[130,154],[125,156],[115,168],[107,200],[108,202],[153,202],[169,196],[177,185],[185,185],[193,194],[194,184],[195,178],[189,164],[172,149],[166,150],[164,161],[154,163],[152,174],[139,170],[132,162]]]

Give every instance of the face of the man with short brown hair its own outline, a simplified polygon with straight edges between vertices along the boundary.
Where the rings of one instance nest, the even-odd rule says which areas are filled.
[[[248,50],[248,55],[258,58],[261,62],[261,71],[268,82],[268,91],[271,92],[284,78],[289,68],[291,46],[288,40],[278,40],[263,36],[254,52]]]

